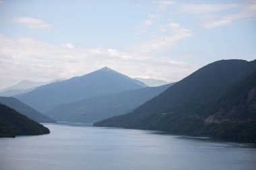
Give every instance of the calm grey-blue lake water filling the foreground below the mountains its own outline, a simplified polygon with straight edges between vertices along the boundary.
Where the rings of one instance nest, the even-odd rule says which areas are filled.
[[[51,134],[0,138],[0,169],[256,169],[253,144],[79,124],[44,126]]]

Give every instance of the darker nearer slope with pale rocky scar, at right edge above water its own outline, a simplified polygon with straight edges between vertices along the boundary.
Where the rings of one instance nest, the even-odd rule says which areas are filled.
[[[220,97],[203,110],[204,126],[199,135],[256,142],[256,69],[224,89]]]

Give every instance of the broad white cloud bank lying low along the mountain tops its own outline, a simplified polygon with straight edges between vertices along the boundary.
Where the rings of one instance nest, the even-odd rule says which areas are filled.
[[[24,79],[70,78],[105,66],[129,77],[166,81],[178,81],[197,69],[188,62],[116,49],[63,48],[32,38],[8,38],[1,34],[0,42],[0,56],[4,56],[0,58],[1,88]]]

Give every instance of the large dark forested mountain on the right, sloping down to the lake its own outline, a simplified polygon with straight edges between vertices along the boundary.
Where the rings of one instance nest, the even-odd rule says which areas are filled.
[[[256,60],[220,60],[207,65],[129,114],[98,122],[256,142]],[[245,79],[247,81],[245,81]],[[248,79],[254,79],[249,83]],[[247,105],[245,105],[246,102]],[[243,105],[244,103],[244,105]]]

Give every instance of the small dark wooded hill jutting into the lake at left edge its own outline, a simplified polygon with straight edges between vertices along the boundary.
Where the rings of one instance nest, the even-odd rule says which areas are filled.
[[[7,105],[0,104],[0,137],[49,133],[48,128],[30,120]]]

